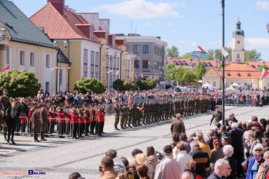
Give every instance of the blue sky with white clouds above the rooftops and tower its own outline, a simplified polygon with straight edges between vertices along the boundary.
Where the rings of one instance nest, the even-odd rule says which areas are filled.
[[[47,0],[11,0],[30,17]],[[179,47],[179,55],[203,49],[220,48],[222,36],[221,0],[65,0],[78,13],[98,12],[110,19],[111,33],[131,32],[160,36],[168,47]],[[225,46],[231,46],[236,21],[245,31],[245,49],[256,49],[269,61],[269,0],[225,0]]]

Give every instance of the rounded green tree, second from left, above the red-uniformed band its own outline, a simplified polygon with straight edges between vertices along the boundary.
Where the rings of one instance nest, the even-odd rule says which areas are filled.
[[[83,94],[91,91],[102,94],[104,93],[105,86],[100,80],[81,77],[81,79],[76,82],[74,90],[78,90]]]

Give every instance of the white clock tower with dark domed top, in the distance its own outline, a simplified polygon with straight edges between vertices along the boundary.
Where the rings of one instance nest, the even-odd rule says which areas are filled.
[[[244,30],[241,30],[241,22],[236,22],[236,30],[233,31],[232,36],[232,63],[245,62],[245,49],[244,49]]]

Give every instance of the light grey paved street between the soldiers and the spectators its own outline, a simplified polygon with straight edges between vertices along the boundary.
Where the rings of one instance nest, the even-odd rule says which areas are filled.
[[[230,112],[235,118],[247,121],[256,115],[258,119],[268,118],[268,107],[236,107],[225,106],[225,117]],[[186,127],[186,134],[192,130],[202,130],[206,134],[212,112],[182,118]],[[105,152],[115,149],[118,156],[132,157],[135,148],[146,153],[147,146],[154,146],[156,151],[162,152],[164,145],[171,142],[170,126],[172,120],[157,124],[134,127],[132,129],[114,131],[113,118],[108,118],[104,137],[91,136],[84,139],[46,138],[45,142],[35,143],[32,137],[15,136],[16,145],[8,146],[0,137],[0,171],[46,172],[46,175],[34,175],[39,179],[67,179],[72,172],[79,172],[86,179],[98,179],[98,167]],[[10,176],[10,175],[9,175]],[[29,176],[29,175],[28,175]],[[27,176],[27,177],[28,177]],[[0,179],[7,176],[0,175]]]

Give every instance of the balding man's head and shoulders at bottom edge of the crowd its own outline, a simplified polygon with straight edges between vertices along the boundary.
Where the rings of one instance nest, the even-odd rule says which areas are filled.
[[[213,173],[207,179],[222,179],[222,176],[229,175],[230,172],[227,172],[227,170],[231,171],[229,162],[224,159],[218,159]]]

